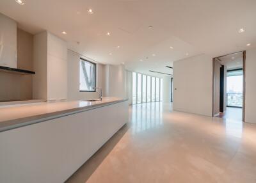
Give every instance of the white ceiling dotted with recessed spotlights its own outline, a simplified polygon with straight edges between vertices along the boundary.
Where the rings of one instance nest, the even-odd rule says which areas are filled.
[[[172,73],[172,69],[165,67],[172,66],[172,61],[202,53],[216,57],[243,51],[248,43],[252,44],[250,47],[256,44],[255,0],[26,0],[25,3],[20,6],[15,0],[1,0],[0,12],[17,20],[19,27],[30,33],[51,31],[67,40],[69,49],[92,60],[124,62],[127,69],[138,72]],[[92,8],[92,15],[87,13],[88,8]],[[240,28],[246,31],[238,33]],[[106,36],[107,32],[111,35]],[[116,48],[118,45],[120,49]]]

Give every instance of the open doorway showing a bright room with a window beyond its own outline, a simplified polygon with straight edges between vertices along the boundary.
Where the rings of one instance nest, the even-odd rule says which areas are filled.
[[[213,58],[212,116],[244,121],[245,54]]]

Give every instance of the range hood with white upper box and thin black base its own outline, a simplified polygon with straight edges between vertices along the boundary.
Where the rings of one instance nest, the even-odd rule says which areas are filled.
[[[0,71],[15,74],[35,74],[17,68],[17,22],[0,13]]]

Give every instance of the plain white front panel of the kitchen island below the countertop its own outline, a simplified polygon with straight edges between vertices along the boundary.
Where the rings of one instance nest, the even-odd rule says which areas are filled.
[[[128,102],[0,132],[0,182],[65,182],[128,122]]]

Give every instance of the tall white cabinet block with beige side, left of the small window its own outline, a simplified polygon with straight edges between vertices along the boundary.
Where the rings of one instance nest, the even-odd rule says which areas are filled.
[[[67,44],[44,31],[34,36],[33,99],[67,99]]]

